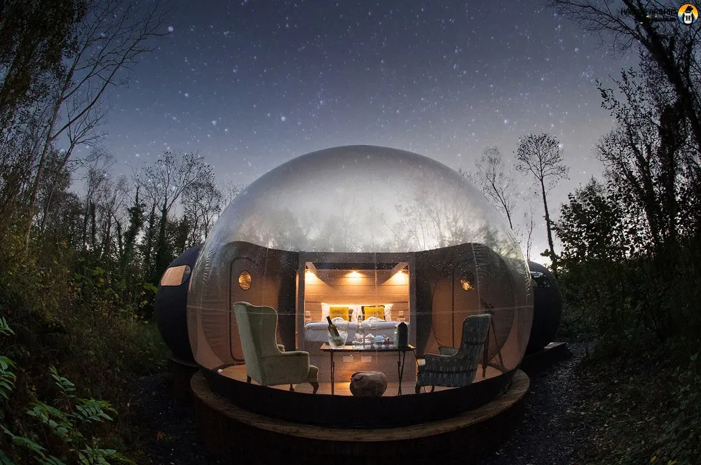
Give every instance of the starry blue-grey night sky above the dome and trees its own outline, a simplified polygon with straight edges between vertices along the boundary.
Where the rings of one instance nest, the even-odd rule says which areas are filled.
[[[545,131],[571,167],[552,192],[559,207],[601,171],[592,144],[613,123],[594,80],[637,62],[536,2],[170,5],[172,32],[109,96],[104,145],[125,173],[172,148],[205,155],[221,181],[250,183],[344,144],[472,169],[486,146],[512,159],[519,136]],[[544,228],[536,233],[539,252]]]

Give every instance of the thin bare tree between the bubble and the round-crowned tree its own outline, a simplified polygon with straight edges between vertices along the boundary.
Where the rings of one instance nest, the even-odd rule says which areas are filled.
[[[474,179],[482,193],[505,214],[509,227],[514,230],[512,216],[516,209],[515,184],[513,177],[505,169],[501,151],[497,147],[485,148],[476,165]]]

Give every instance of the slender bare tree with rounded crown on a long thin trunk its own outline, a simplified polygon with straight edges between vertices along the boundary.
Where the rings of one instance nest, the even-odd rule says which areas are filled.
[[[550,247],[550,260],[553,269],[557,268],[557,257],[552,242],[552,224],[550,212],[547,209],[547,193],[557,185],[558,181],[567,179],[568,168],[563,164],[562,148],[559,141],[545,132],[541,134],[526,134],[519,139],[516,150],[516,169],[524,174],[530,173],[540,188],[545,210],[545,229],[547,244]]]

